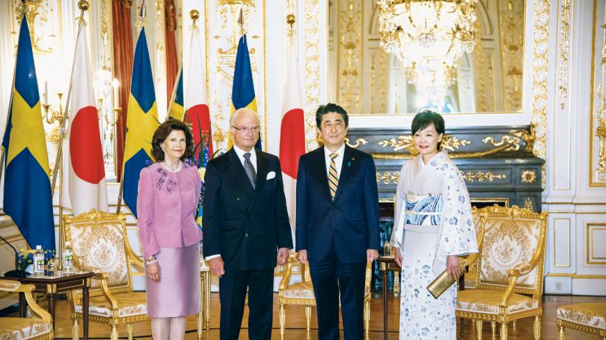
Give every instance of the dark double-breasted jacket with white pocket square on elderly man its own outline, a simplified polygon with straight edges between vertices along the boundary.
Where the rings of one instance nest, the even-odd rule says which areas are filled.
[[[274,268],[278,248],[293,248],[277,156],[255,149],[253,189],[231,148],[208,162],[204,176],[204,256],[221,254],[226,270]],[[267,179],[274,172],[275,176]]]

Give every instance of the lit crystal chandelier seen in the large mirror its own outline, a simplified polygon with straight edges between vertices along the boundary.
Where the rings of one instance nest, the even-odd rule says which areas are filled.
[[[458,58],[475,46],[475,3],[379,0],[381,46],[404,63],[415,85],[448,87],[456,79]]]

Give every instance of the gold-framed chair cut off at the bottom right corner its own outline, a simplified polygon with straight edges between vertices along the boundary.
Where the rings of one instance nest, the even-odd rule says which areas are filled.
[[[556,323],[559,340],[566,340],[566,328],[596,334],[606,340],[606,302],[560,306]]]

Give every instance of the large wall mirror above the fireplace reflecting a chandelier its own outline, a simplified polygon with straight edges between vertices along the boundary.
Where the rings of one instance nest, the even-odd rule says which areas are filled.
[[[522,111],[525,0],[329,0],[329,99],[352,114]]]

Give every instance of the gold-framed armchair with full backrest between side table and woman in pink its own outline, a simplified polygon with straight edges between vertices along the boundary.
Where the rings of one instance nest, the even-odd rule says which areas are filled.
[[[148,320],[146,296],[132,289],[131,268],[143,261],[132,250],[126,234],[123,213],[104,213],[95,209],[79,216],[63,217],[65,241],[70,241],[76,270],[92,270],[88,314],[90,321],[111,327],[111,340],[118,340],[118,326],[126,323],[132,340],[132,324]],[[72,302],[72,337],[79,336],[82,318],[80,292],[69,293]]]

